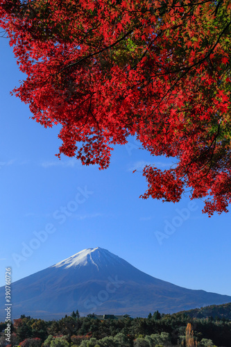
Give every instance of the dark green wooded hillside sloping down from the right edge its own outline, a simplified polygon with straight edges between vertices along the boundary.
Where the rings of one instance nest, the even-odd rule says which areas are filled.
[[[178,314],[188,314],[193,318],[207,318],[212,316],[219,319],[228,319],[231,321],[231,303],[223,305],[211,305],[206,307],[195,308],[189,311],[181,311]]]

